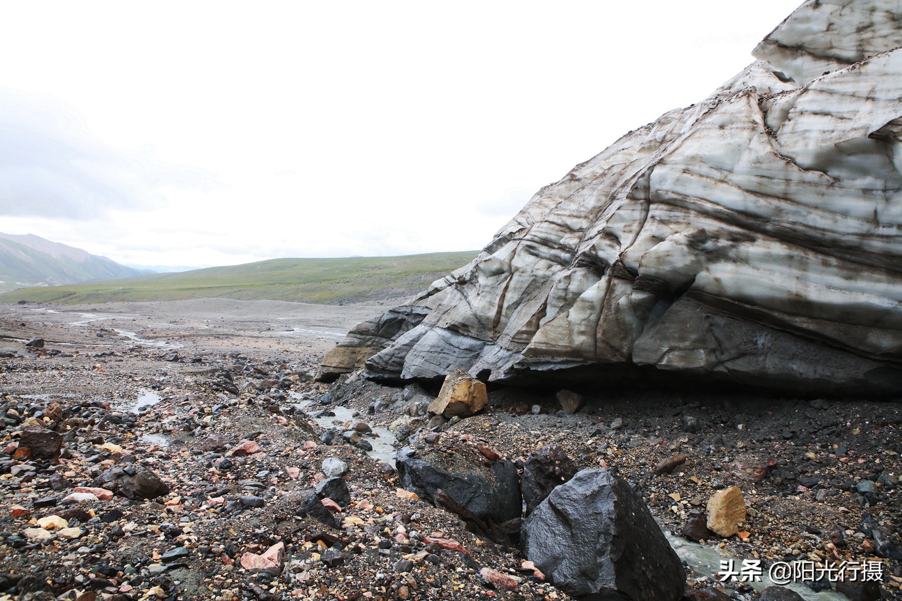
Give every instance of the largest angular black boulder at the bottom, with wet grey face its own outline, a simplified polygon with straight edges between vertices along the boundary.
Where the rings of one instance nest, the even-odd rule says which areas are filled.
[[[649,508],[607,469],[556,487],[523,524],[527,559],[588,601],[674,601],[686,571]]]

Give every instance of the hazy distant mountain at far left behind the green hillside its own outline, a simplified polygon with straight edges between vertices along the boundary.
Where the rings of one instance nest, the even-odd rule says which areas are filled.
[[[0,291],[79,284],[99,278],[129,278],[143,273],[148,272],[32,233],[0,233]]]

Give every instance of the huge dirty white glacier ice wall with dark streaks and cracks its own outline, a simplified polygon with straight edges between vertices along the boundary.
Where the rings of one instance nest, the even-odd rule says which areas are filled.
[[[806,2],[712,96],[541,189],[393,315],[412,327],[358,326],[329,370],[365,346],[383,380],[902,391],[900,20],[897,0]]]

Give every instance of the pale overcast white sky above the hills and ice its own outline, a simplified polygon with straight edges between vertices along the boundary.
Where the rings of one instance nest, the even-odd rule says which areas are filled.
[[[3,3],[0,232],[128,265],[480,249],[799,3]]]

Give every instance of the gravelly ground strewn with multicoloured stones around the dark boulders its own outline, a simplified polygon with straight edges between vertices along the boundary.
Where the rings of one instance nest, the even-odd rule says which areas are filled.
[[[523,563],[515,533],[402,487],[365,451],[371,426],[446,468],[521,468],[555,443],[706,548],[764,565],[877,560],[880,592],[900,597],[896,401],[579,391],[566,414],[557,390],[508,387],[447,421],[427,412],[438,384],[312,380],[379,307],[211,303],[0,308],[0,347],[14,350],[0,351],[0,598],[567,598]],[[26,348],[32,336],[44,346]],[[324,432],[313,418],[337,407],[357,414]],[[692,523],[734,485],[740,533]]]

